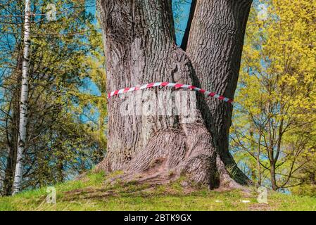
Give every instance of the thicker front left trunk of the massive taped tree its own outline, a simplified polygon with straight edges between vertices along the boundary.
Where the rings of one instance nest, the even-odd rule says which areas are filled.
[[[187,53],[175,46],[170,1],[99,0],[98,5],[107,58],[108,91],[151,82],[201,84]],[[201,3],[198,1],[197,6],[199,5]],[[208,42],[208,39],[203,42]],[[224,63],[217,66],[225,68],[227,65]],[[238,73],[234,75],[238,76]],[[220,79],[217,82],[222,84]],[[230,89],[236,88],[232,84],[222,85],[228,85]],[[223,89],[225,87],[220,91]],[[168,115],[146,115],[144,112],[141,115],[125,115],[126,108],[130,109],[127,105],[129,100],[129,103],[141,101],[142,105],[153,105],[156,102],[153,99],[159,97],[159,91],[173,91],[175,94],[178,90],[169,87],[155,88],[151,91],[151,98],[148,97],[148,91],[137,91],[108,100],[108,154],[97,169],[106,172],[122,170],[128,179],[137,177],[140,180],[166,181],[185,175],[198,184],[207,184],[210,188],[220,184],[238,186],[230,178],[225,162],[219,156],[224,148],[219,148],[217,139],[221,136],[215,131],[222,131],[222,128],[217,129],[215,122],[210,123],[213,124],[211,127],[205,121],[206,117],[202,113],[211,114],[203,112],[206,111],[204,108],[201,108],[202,111],[196,109],[191,112],[190,122],[187,115],[177,115],[177,110],[172,110],[172,114]],[[229,97],[233,94],[234,90]],[[192,101],[182,102],[182,108],[192,107],[192,103],[195,103]],[[213,116],[218,118],[214,120],[210,116],[210,119],[219,120],[217,123],[222,127],[223,120],[230,122],[228,115],[231,116],[232,107],[229,103],[223,103],[219,107],[223,118],[215,114]],[[224,109],[229,112],[223,112]],[[226,132],[226,129],[223,131]]]

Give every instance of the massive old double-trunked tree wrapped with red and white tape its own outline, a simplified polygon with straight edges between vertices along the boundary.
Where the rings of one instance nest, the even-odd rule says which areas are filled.
[[[175,45],[171,1],[98,1],[107,64],[107,89],[177,82],[234,97],[250,0],[194,1],[186,49]],[[158,89],[158,88],[157,88]],[[170,91],[168,87],[160,88]],[[177,94],[172,89],[172,94]],[[125,95],[134,96],[136,92]],[[140,101],[153,103],[142,91]],[[97,169],[122,170],[126,179],[191,181],[237,187],[248,179],[228,151],[232,105],[198,94],[185,115],[122,115],[124,96],[108,99],[108,153]],[[147,99],[148,98],[148,99]],[[190,98],[191,99],[191,98]],[[190,107],[190,101],[182,103]],[[234,179],[231,176],[236,175]]]

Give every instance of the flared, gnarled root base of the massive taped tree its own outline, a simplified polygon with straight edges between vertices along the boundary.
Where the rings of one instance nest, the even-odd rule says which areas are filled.
[[[168,184],[186,177],[187,184],[214,188],[242,189],[229,174],[225,163],[211,145],[212,139],[203,124],[185,124],[182,129],[158,131],[127,165],[116,180],[137,184]],[[110,158],[106,158],[96,171],[113,172]]]

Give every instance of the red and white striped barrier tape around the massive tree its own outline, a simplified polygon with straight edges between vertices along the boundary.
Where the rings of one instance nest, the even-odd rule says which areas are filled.
[[[138,91],[138,90],[142,90],[142,89],[148,89],[148,88],[151,88],[153,86],[171,86],[171,87],[175,87],[177,89],[191,89],[191,90],[203,93],[206,96],[210,96],[210,97],[213,97],[213,98],[220,99],[220,100],[225,101],[227,103],[233,103],[234,102],[233,99],[226,98],[225,96],[221,96],[219,94],[215,94],[214,92],[206,91],[204,89],[199,89],[196,86],[192,86],[192,85],[188,85],[188,84],[176,84],[176,83],[170,83],[170,82],[156,82],[156,83],[151,83],[151,84],[145,84],[145,85],[142,85],[142,86],[134,86],[134,87],[126,88],[126,89],[120,89],[120,90],[112,91],[112,92],[110,92],[108,94],[108,98],[110,98],[112,96],[116,96],[118,94],[124,94],[124,93],[127,93],[127,92],[131,92],[131,91]]]

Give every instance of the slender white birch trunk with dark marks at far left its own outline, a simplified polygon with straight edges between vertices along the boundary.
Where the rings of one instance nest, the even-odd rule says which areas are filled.
[[[18,137],[18,153],[16,158],[13,195],[21,189],[23,176],[23,153],[26,139],[27,126],[27,98],[28,98],[28,70],[30,60],[30,0],[25,0],[25,20],[24,20],[24,49],[23,49],[23,69],[21,82],[20,99],[20,124]]]

